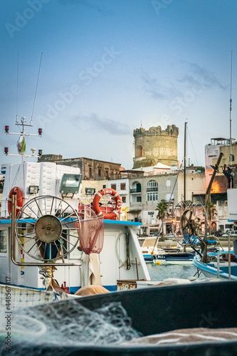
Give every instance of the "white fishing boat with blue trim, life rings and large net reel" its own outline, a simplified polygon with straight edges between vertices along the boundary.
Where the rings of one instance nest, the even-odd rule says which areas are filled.
[[[17,125],[23,126],[24,138],[25,118]],[[122,201],[117,192],[102,189],[91,201],[93,209],[92,204],[82,207],[80,169],[25,162],[23,148],[23,162],[6,167],[0,283],[8,278],[14,286],[75,293],[89,285],[117,290],[117,281],[149,281],[137,241],[141,224],[120,220]],[[106,194],[114,204],[105,211],[99,201]]]

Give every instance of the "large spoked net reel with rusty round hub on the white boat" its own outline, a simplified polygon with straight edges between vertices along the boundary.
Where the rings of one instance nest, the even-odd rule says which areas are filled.
[[[35,197],[16,216],[16,240],[20,248],[42,262],[68,256],[78,244],[79,229],[77,211],[57,197]]]

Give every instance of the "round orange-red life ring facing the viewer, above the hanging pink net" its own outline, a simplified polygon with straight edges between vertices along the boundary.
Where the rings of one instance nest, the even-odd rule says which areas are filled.
[[[106,194],[112,195],[112,197],[115,198],[116,206],[112,212],[104,214],[100,210],[99,202],[100,202],[100,198]],[[118,214],[121,213],[122,210],[122,200],[120,198],[120,195],[116,192],[115,189],[112,188],[101,189],[100,192],[95,193],[95,197],[93,199],[93,210],[95,211],[95,214],[97,216],[103,216],[105,219],[114,219],[115,217],[118,216]]]

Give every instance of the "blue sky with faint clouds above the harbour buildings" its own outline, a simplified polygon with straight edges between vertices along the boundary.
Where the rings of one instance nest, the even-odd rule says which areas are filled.
[[[26,147],[132,168],[133,130],[179,127],[183,156],[204,165],[211,137],[237,139],[236,0],[1,0],[1,150],[16,153],[19,117],[31,119]]]

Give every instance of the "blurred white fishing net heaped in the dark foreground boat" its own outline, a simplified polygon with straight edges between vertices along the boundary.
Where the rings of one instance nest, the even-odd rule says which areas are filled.
[[[6,313],[0,317],[0,355],[4,355]],[[11,314],[11,351],[16,356],[53,355],[54,345],[66,356],[68,346],[117,345],[140,336],[118,302],[92,311],[70,300],[21,308]]]

